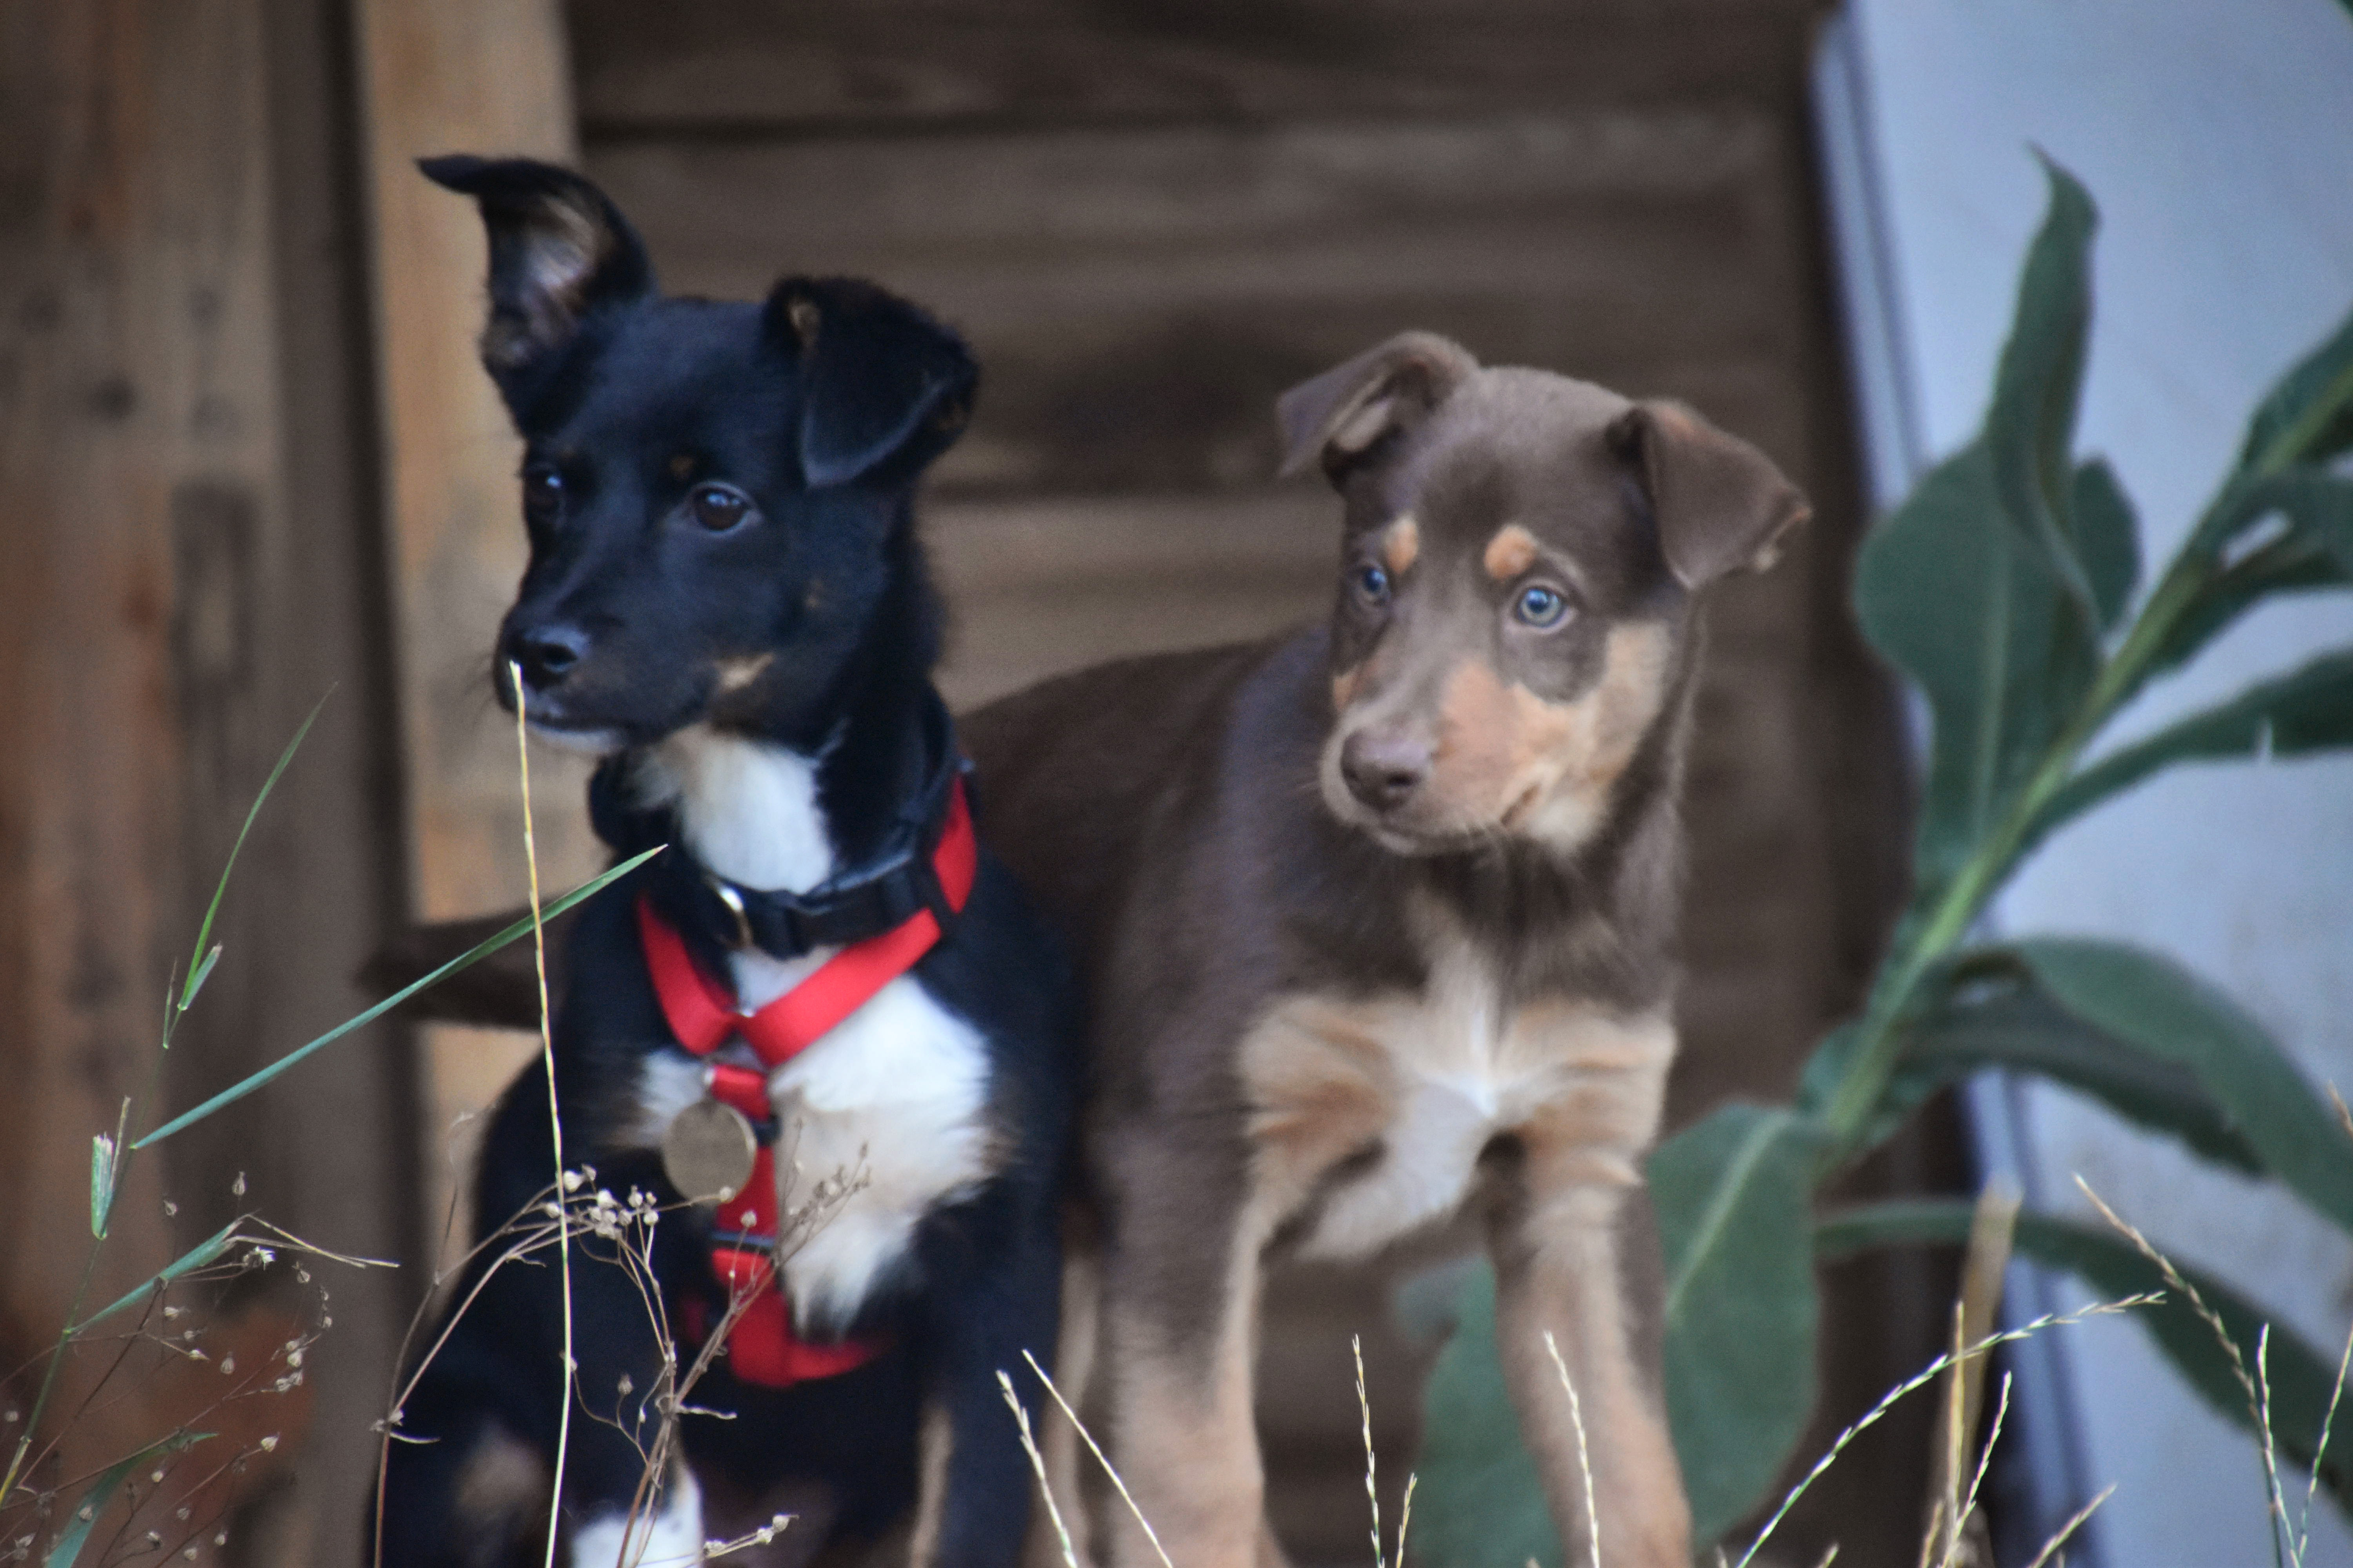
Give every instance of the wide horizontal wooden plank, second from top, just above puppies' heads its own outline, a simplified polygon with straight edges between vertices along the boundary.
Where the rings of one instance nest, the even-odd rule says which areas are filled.
[[[1777,418],[1777,214],[1755,115],[1174,127],[607,148],[671,287],[880,277],[986,381],[948,494],[1259,484],[1278,390],[1419,324],[1501,360]],[[1781,433],[1755,433],[1767,444]],[[1802,442],[1788,442],[1802,444]]]

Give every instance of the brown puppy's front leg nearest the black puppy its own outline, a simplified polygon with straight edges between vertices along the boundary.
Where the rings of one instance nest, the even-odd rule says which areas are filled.
[[[1122,1131],[1113,1147],[1111,1458],[1169,1561],[1252,1568],[1266,1497],[1252,1420],[1266,1227],[1228,1150],[1160,1131]],[[1125,1507],[1108,1526],[1113,1568],[1158,1568]]]

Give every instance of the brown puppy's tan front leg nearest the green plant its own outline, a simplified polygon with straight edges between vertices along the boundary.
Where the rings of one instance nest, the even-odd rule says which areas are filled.
[[[1577,1425],[1546,1333],[1577,1385],[1600,1561],[1687,1568],[1692,1512],[1657,1378],[1661,1284],[1649,1201],[1626,1159],[1560,1131],[1522,1133],[1525,1159],[1489,1222],[1504,1380],[1553,1523],[1569,1542],[1567,1561],[1591,1563],[1593,1544]],[[1635,1312],[1631,1302],[1640,1302]]]

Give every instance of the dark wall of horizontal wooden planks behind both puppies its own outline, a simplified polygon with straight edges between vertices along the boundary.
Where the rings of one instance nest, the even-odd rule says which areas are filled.
[[[984,386],[927,534],[972,703],[1113,654],[1320,614],[1332,498],[1275,484],[1271,402],[1400,327],[1685,397],[1819,515],[1720,592],[1675,1114],[1786,1095],[1899,886],[1899,748],[1845,616],[1859,529],[1817,240],[1814,0],[572,0],[586,169],[675,292],[861,273],[958,322]],[[1882,1173],[1885,1175],[1885,1173]],[[1932,1281],[1840,1281],[1831,1410],[1927,1354]],[[1268,1326],[1275,1514],[1362,1556],[1348,1333],[1402,1479],[1419,1354],[1299,1281]],[[1918,1354],[1915,1354],[1918,1352]],[[1831,1427],[1835,1429],[1835,1427]],[[1911,1448],[1824,1507],[1918,1540]],[[1880,1495],[1875,1514],[1859,1502]],[[1395,1500],[1391,1500],[1395,1507]],[[1887,1526],[1873,1537],[1866,1514]],[[1892,1523],[1889,1523],[1892,1521]]]

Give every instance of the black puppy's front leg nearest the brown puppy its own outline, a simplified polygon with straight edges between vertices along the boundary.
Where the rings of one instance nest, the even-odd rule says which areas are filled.
[[[1047,1394],[1024,1352],[1052,1373],[1059,1316],[1061,1234],[1049,1211],[1028,1215],[1002,1246],[988,1248],[981,1267],[932,1293],[913,1568],[1014,1568],[1021,1561],[1035,1476],[998,1373],[1014,1380],[1031,1420],[1040,1422]]]

